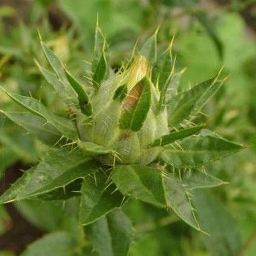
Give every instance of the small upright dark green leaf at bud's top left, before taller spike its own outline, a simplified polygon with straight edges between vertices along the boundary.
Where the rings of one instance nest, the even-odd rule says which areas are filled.
[[[99,63],[96,66],[96,69],[93,74],[93,87],[95,90],[98,90],[101,82],[107,77],[108,74],[108,63],[105,56],[105,52],[102,52],[101,59],[99,59]]]

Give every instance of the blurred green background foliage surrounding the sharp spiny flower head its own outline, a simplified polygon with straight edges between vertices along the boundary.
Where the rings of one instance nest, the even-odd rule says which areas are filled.
[[[256,2],[1,0],[1,84],[17,93],[32,94],[59,112],[60,102],[34,62],[45,62],[38,33],[86,83],[97,15],[110,42],[114,70],[129,56],[137,39],[140,44],[157,26],[160,48],[175,38],[176,68],[183,73],[177,77],[177,90],[223,68],[229,77],[195,121],[205,121],[223,137],[248,145],[246,151],[206,168],[229,185],[195,193],[194,204],[204,209],[199,213],[202,227],[211,236],[192,230],[163,210],[131,200],[124,208],[139,232],[130,255],[256,255]],[[0,94],[2,106],[15,107]],[[2,193],[21,175],[20,169],[37,162],[43,144],[1,114],[0,128]],[[84,243],[76,216],[69,214],[76,204],[76,199],[69,199],[63,207],[59,202],[34,201],[1,206],[0,255],[20,254],[39,237],[24,255],[35,255],[45,244],[54,246],[48,241],[58,244],[63,240],[66,246]]]

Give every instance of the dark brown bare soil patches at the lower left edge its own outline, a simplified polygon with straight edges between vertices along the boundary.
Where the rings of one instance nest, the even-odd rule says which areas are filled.
[[[20,169],[26,169],[26,166],[18,162],[5,171],[4,179],[0,181],[0,194],[23,174]],[[5,208],[11,222],[8,224],[9,230],[0,236],[0,251],[6,250],[20,255],[29,243],[40,238],[44,232],[27,222],[16,210],[15,205],[7,204]]]

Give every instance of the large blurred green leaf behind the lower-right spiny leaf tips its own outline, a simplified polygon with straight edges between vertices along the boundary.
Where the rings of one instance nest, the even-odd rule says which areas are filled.
[[[201,237],[210,255],[238,255],[241,249],[238,227],[218,198],[207,191],[196,190],[194,204],[202,228],[209,234]]]

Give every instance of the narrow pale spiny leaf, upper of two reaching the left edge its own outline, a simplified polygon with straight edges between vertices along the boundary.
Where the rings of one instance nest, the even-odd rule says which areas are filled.
[[[4,88],[2,88],[2,90],[4,90]],[[69,119],[63,118],[62,116],[57,116],[50,112],[48,108],[41,104],[41,102],[37,99],[10,93],[6,90],[4,91],[13,101],[29,110],[29,112],[46,119],[49,124],[59,130],[59,132],[62,133],[65,137],[77,137],[76,127]]]

